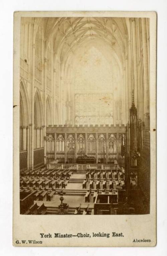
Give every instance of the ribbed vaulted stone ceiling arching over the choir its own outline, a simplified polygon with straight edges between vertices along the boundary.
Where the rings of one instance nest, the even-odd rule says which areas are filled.
[[[125,18],[111,17],[63,17],[42,18],[46,47],[50,40],[53,51],[65,61],[81,45],[95,41],[108,46],[123,63],[127,47],[127,23]]]

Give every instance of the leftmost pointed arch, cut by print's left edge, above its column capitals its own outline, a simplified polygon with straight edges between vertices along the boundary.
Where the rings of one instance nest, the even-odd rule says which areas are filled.
[[[20,126],[29,124],[29,98],[24,80],[20,80]]]

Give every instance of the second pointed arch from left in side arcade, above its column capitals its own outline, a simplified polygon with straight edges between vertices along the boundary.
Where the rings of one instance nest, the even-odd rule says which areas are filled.
[[[37,90],[34,97],[34,127],[41,127],[42,121],[42,100]]]

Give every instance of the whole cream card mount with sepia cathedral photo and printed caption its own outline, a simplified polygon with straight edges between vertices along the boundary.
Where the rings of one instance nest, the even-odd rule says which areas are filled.
[[[13,58],[13,245],[155,246],[156,13],[18,11]]]

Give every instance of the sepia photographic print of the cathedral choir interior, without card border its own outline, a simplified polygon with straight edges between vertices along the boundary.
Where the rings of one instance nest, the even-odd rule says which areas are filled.
[[[21,18],[20,214],[149,214],[149,35],[149,18]]]

